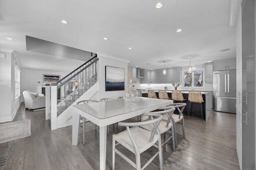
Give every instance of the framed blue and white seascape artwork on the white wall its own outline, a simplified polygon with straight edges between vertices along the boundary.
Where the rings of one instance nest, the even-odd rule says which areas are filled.
[[[106,66],[105,91],[124,90],[124,68]]]

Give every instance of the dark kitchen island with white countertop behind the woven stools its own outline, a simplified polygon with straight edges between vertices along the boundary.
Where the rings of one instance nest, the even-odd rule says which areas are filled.
[[[156,92],[156,96],[158,96],[158,90],[155,90],[155,92]],[[166,92],[168,93],[169,98],[172,98],[172,91],[171,90],[166,90]],[[188,101],[188,92],[189,91],[181,91],[181,92],[183,94],[183,98],[186,99],[185,100],[185,102],[187,104],[187,106],[186,106],[186,115],[188,115],[188,113],[189,113],[188,109],[189,109],[189,104],[190,104],[190,102]],[[203,100],[204,100],[204,103],[203,103],[204,120],[207,121],[208,118],[209,118],[209,115],[210,115],[210,111],[212,110],[210,108],[210,101],[212,101],[212,100],[210,100],[210,92],[201,92],[201,93],[202,93],[202,97],[203,97]],[[177,103],[177,102],[174,101],[174,103]],[[192,111],[192,116],[198,116],[198,115],[193,114],[193,112],[194,113],[201,113],[200,104],[197,104],[197,103],[192,104],[191,109],[192,109],[191,110]]]

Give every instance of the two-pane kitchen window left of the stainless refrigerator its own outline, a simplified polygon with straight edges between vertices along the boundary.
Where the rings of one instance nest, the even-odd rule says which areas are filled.
[[[184,87],[204,87],[204,70],[185,71],[184,72]]]

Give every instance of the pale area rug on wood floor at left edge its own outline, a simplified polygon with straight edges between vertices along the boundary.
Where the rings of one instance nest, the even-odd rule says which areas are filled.
[[[0,143],[31,135],[30,119],[0,124]]]

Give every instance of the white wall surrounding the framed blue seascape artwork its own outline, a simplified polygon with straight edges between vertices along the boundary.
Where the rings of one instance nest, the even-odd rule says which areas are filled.
[[[106,55],[104,53],[97,52],[98,61],[98,81],[100,82],[99,85],[99,93],[98,97],[102,98],[113,98],[117,99],[119,96],[123,96],[124,90],[116,90],[116,91],[105,91],[105,66],[114,66],[119,68],[125,68],[125,87],[127,88],[127,68],[128,68],[128,60],[122,59],[119,57]]]

